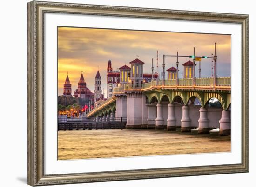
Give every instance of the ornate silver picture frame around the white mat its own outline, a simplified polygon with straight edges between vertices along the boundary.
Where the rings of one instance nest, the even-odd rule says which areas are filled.
[[[44,69],[45,13],[204,21],[241,25],[241,163],[108,172],[45,174],[44,87],[47,86],[45,85]],[[32,1],[28,3],[27,70],[28,184],[31,186],[249,172],[249,15]]]

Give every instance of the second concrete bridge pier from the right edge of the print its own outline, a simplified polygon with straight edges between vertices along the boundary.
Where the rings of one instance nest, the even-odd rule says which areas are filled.
[[[210,128],[209,128],[209,119],[207,117],[207,109],[206,108],[200,108],[200,117],[198,119],[198,134],[209,134]]]

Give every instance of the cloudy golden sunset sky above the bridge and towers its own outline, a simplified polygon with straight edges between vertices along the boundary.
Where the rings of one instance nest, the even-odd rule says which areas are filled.
[[[188,29],[189,30],[189,29]],[[162,73],[163,54],[211,56],[217,42],[217,76],[230,76],[231,36],[217,34],[195,34],[177,32],[151,32],[111,29],[58,27],[58,95],[63,93],[63,84],[68,77],[72,84],[72,94],[83,71],[87,87],[94,92],[94,78],[98,66],[101,74],[102,90],[107,93],[107,66],[112,61],[113,71],[135,58],[145,62],[144,73],[151,73],[152,58],[156,72],[156,51],[159,51],[159,72]],[[191,58],[179,58],[179,77],[182,64]],[[176,58],[166,58],[165,68],[176,66]],[[199,62],[197,62],[198,64]],[[198,67],[196,74],[198,77]],[[211,76],[211,59],[201,62],[201,77]],[[167,75],[167,73],[166,73]]]

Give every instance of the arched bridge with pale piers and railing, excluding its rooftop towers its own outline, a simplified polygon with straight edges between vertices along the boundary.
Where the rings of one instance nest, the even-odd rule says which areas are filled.
[[[127,118],[126,129],[167,129],[207,134],[219,128],[230,135],[231,78],[154,80],[120,84],[109,98],[88,113],[95,122]],[[219,107],[210,105],[218,100]]]

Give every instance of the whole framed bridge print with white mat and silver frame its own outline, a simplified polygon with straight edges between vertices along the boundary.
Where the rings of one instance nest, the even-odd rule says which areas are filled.
[[[249,15],[28,3],[29,185],[239,172]]]

